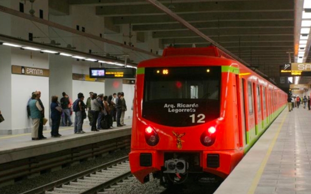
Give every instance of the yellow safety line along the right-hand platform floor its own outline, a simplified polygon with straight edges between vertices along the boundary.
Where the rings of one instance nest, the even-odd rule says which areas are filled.
[[[287,112],[287,113],[288,113],[288,112]],[[278,129],[277,129],[276,135],[274,136],[274,138],[273,138],[273,140],[272,140],[272,142],[271,142],[271,144],[270,144],[270,146],[269,146],[269,148],[268,148],[268,151],[267,151],[267,153],[266,153],[266,155],[265,155],[263,161],[261,162],[261,165],[260,165],[260,167],[259,167],[259,170],[257,171],[256,176],[255,176],[255,178],[254,178],[254,180],[253,180],[253,182],[252,182],[252,185],[251,185],[251,187],[249,188],[247,194],[254,194],[254,193],[255,193],[255,190],[256,190],[256,188],[257,188],[257,185],[258,185],[258,183],[259,183],[259,180],[260,180],[260,178],[261,178],[261,175],[262,175],[262,173],[263,173],[263,170],[264,170],[264,168],[265,168],[265,166],[266,166],[266,164],[267,164],[267,162],[268,162],[268,159],[269,159],[269,157],[270,157],[270,155],[271,155],[272,149],[273,149],[274,145],[276,144],[277,137],[278,137],[278,135],[279,135],[279,133],[280,133],[280,131],[281,131],[281,129],[282,129],[282,126],[283,126],[283,123],[284,123],[285,118],[286,118],[286,116],[287,116],[287,113],[285,114],[285,116],[284,116],[284,118],[283,118],[281,124],[279,125],[279,127],[278,127]]]

